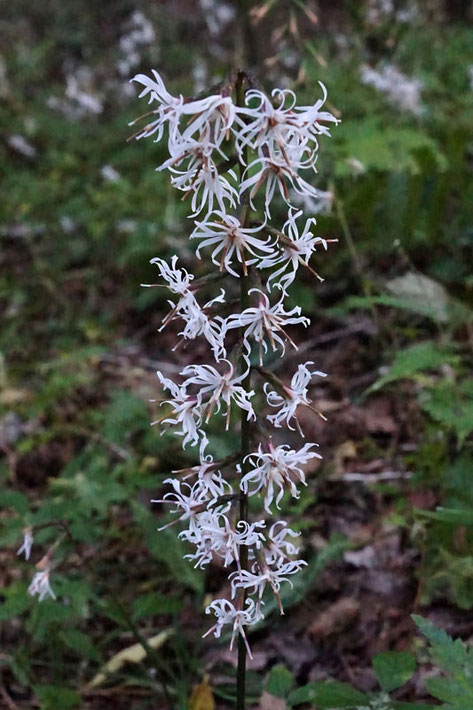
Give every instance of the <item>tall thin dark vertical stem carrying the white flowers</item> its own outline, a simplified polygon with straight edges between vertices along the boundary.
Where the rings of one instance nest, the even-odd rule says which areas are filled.
[[[245,102],[245,82],[246,82],[246,75],[244,72],[239,71],[238,76],[237,76],[237,81],[236,81],[236,99],[237,99],[237,104],[238,106],[243,106]],[[243,159],[245,163],[248,162],[247,160],[247,150],[245,149],[245,153],[243,156]],[[240,163],[240,180],[242,178],[243,172],[245,169],[245,165]],[[247,221],[248,221],[248,195],[242,195],[240,199],[240,221],[242,223],[242,226],[245,226]],[[250,268],[250,267],[248,267]],[[241,310],[245,310],[245,308],[248,308],[250,304],[250,296],[249,296],[249,290],[251,288],[251,283],[250,283],[250,275],[249,271],[248,274],[245,275],[245,273],[242,272],[240,274],[240,286],[241,286],[241,291],[240,291],[240,304],[241,304]],[[248,374],[246,375],[245,379],[242,382],[243,387],[247,392],[250,391],[251,389],[251,370],[248,367],[248,363],[245,361],[245,358],[243,355],[240,356],[240,368],[241,371],[244,372],[246,368],[248,368]],[[247,473],[247,469],[249,469],[249,462],[245,461],[246,455],[250,453],[250,445],[251,445],[251,432],[250,432],[250,422],[248,421],[247,418],[247,412],[242,409],[241,410],[241,455],[242,455],[242,464],[241,464],[241,473],[242,476]],[[243,493],[242,490],[240,490],[240,520],[247,521],[248,520],[248,496],[246,493]],[[241,569],[247,569],[248,567],[248,548],[246,545],[241,545],[240,546],[240,568]],[[242,599],[241,599],[241,604],[242,608],[245,604],[245,599],[246,599],[246,592],[245,590],[242,591]],[[237,667],[237,696],[236,696],[236,710],[245,710],[245,705],[246,705],[246,645],[244,642],[244,639],[242,635],[240,634],[238,636],[238,667]]]

